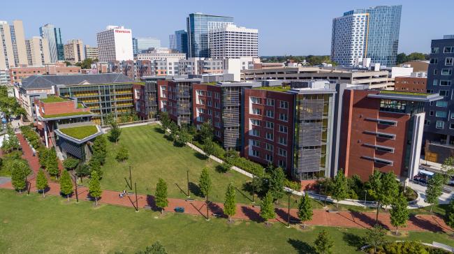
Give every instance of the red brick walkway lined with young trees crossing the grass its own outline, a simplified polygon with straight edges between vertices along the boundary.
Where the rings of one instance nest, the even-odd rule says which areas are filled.
[[[23,137],[20,142],[24,142]],[[37,172],[39,169],[38,158],[33,156],[31,149],[27,144],[22,145],[24,150],[24,158],[29,160],[29,164],[34,172]],[[31,181],[31,191],[36,192],[36,182],[33,178],[29,178]],[[102,183],[101,183],[102,184]],[[0,188],[10,188],[10,183],[3,184]],[[50,182],[50,188],[46,191],[47,195],[59,195],[59,184]],[[80,200],[90,200],[88,195],[88,188],[80,187],[78,188],[78,196]],[[75,199],[75,195],[71,198]],[[166,211],[174,211],[175,207],[184,207],[185,214],[193,214],[206,216],[206,207],[205,202],[203,201],[186,201],[181,199],[169,198],[169,205],[166,207]],[[100,203],[103,204],[115,204],[125,207],[133,207],[133,204],[136,202],[135,195],[131,194],[123,198],[119,198],[118,191],[103,191],[103,195]],[[154,205],[154,198],[152,195],[138,195],[138,207],[139,208],[152,208],[156,210]],[[222,209],[223,204],[221,203],[210,203],[208,205],[209,214],[220,214],[223,215]],[[261,221],[259,216],[260,208],[253,207],[247,204],[237,204],[237,212],[233,218],[245,219],[251,221]],[[287,221],[287,209],[276,209],[277,219],[272,221],[279,221],[280,223],[286,223]],[[291,209],[291,220],[297,220],[296,209]],[[389,214],[379,214],[379,221],[385,227],[389,229],[394,229],[390,225]],[[350,211],[341,211],[339,213],[330,213],[325,210],[316,209],[314,210],[314,216],[312,221],[307,222],[307,225],[325,225],[333,227],[371,227],[375,223],[375,213],[370,212],[350,212]],[[435,215],[418,215],[411,216],[410,220],[407,223],[407,227],[402,228],[402,230],[414,230],[414,231],[432,231],[432,232],[451,232],[449,227],[444,223],[443,219]]]

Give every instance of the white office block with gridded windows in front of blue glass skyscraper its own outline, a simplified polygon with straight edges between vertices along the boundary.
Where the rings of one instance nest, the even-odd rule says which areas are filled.
[[[258,58],[258,29],[237,27],[235,24],[210,29],[208,45],[210,57],[223,59],[224,68],[228,67],[228,59]]]

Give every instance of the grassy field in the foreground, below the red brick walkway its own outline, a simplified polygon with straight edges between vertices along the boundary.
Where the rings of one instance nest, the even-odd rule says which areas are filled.
[[[161,241],[168,253],[314,253],[322,228],[335,240],[334,253],[360,253],[365,230],[309,227],[290,229],[263,223],[166,214],[62,197],[19,195],[0,190],[0,253],[135,253]],[[438,241],[454,245],[446,234],[409,232],[393,240]]]

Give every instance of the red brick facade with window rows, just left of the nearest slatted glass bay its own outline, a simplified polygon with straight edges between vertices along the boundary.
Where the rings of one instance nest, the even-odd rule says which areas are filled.
[[[244,90],[245,158],[283,167],[290,175],[293,148],[295,95],[258,89]],[[279,114],[286,114],[281,121]]]

